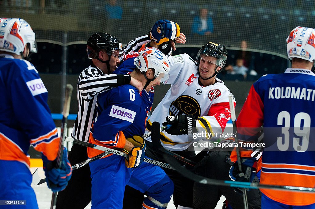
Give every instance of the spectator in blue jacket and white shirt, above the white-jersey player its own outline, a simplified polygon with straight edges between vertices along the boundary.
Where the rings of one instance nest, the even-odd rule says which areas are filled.
[[[209,38],[209,36],[212,33],[213,33],[213,22],[212,22],[211,17],[208,15],[208,9],[201,8],[200,14],[198,16],[195,16],[192,22],[192,34],[194,38],[197,38],[197,40],[200,40],[202,39],[203,36],[206,36],[206,38]]]

